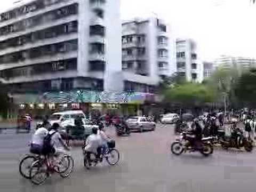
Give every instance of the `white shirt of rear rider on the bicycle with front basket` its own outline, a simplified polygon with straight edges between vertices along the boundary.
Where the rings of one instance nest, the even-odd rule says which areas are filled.
[[[102,145],[102,140],[99,134],[91,134],[85,143],[85,151],[97,154],[97,149]]]

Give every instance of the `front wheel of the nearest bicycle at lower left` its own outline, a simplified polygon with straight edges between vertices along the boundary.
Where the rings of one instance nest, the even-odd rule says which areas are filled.
[[[70,155],[65,155],[59,162],[59,174],[62,178],[67,178],[74,168],[74,159]]]

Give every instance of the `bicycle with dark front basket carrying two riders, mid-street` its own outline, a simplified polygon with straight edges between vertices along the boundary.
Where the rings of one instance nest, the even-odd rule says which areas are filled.
[[[87,170],[89,170],[90,167],[92,166],[91,165],[92,162],[94,162],[94,166],[96,166],[99,162],[102,162],[104,158],[106,159],[108,164],[111,166],[114,166],[119,162],[120,155],[119,155],[119,151],[115,149],[114,140],[108,142],[108,147],[105,149],[104,153],[100,154],[100,157],[98,157],[97,154],[84,151],[84,147],[82,148],[83,154],[84,154],[84,166],[86,167]],[[101,151],[103,151],[102,148],[101,148]],[[88,158],[88,154],[90,155],[90,159]]]

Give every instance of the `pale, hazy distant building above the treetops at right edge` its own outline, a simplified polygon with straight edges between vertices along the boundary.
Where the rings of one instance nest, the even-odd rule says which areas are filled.
[[[256,68],[256,60],[247,57],[231,57],[228,55],[221,55],[215,60],[215,67],[230,70],[231,68],[237,69],[241,74],[242,71]]]

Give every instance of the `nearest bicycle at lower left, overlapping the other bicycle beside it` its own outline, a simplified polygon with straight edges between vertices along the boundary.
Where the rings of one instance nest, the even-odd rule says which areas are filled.
[[[52,164],[52,155],[46,155],[36,160],[30,167],[29,177],[35,185],[41,185],[51,174],[58,173],[60,177],[67,178],[73,172],[74,159],[70,155],[63,155],[58,165]]]

